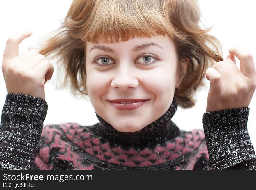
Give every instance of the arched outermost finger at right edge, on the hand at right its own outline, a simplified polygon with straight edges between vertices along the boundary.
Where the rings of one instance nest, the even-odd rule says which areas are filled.
[[[235,55],[240,60],[240,70],[248,78],[254,78],[256,75],[253,56],[246,50],[239,47],[230,48],[229,53]]]

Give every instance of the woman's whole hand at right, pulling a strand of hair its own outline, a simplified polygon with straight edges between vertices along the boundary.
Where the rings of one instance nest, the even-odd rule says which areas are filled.
[[[248,107],[253,97],[256,88],[253,56],[238,47],[228,51],[227,59],[206,70],[210,81],[206,112]],[[241,70],[236,66],[235,56],[240,60]]]

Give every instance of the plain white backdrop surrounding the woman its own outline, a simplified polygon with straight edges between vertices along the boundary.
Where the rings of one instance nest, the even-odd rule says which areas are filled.
[[[25,29],[32,30],[32,35],[19,45],[19,53],[23,53],[30,46],[36,46],[40,37],[61,26],[59,20],[65,18],[71,2],[71,0],[0,1],[0,63],[2,63],[6,39],[10,34]],[[227,50],[232,46],[244,48],[252,53],[254,58],[256,57],[255,1],[243,0],[241,3],[234,0],[199,0],[199,5],[204,25],[214,25],[209,33],[221,41],[223,58],[227,57]],[[238,59],[237,66],[239,67]],[[0,74],[0,109],[2,110],[7,91],[3,75]],[[53,79],[45,85],[45,100],[49,108],[44,125],[63,122],[92,125],[98,122],[91,103],[86,99],[75,99],[68,90],[57,90],[54,86],[55,79],[56,72]],[[180,129],[186,131],[203,129],[202,115],[205,113],[208,91],[209,81],[205,88],[196,93],[197,102],[193,108],[183,110],[178,107],[172,120]],[[249,107],[248,131],[256,147],[256,95],[253,96]]]

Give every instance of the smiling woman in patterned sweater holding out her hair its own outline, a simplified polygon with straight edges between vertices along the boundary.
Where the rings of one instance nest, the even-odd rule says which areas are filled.
[[[73,1],[40,51],[18,53],[31,32],[10,36],[0,168],[256,169],[247,131],[253,57],[231,48],[223,59],[219,41],[199,21],[197,1]],[[43,127],[50,55],[65,68],[72,92],[89,96],[99,123]],[[204,131],[182,131],[171,118],[178,105],[194,105],[205,76],[211,88]]]

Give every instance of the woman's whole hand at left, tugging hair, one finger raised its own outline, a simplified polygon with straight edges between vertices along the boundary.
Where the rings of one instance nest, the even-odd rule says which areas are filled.
[[[51,79],[54,67],[35,48],[29,48],[19,55],[19,44],[31,34],[30,31],[19,32],[7,39],[3,53],[3,77],[7,93],[45,99],[45,82]]]

